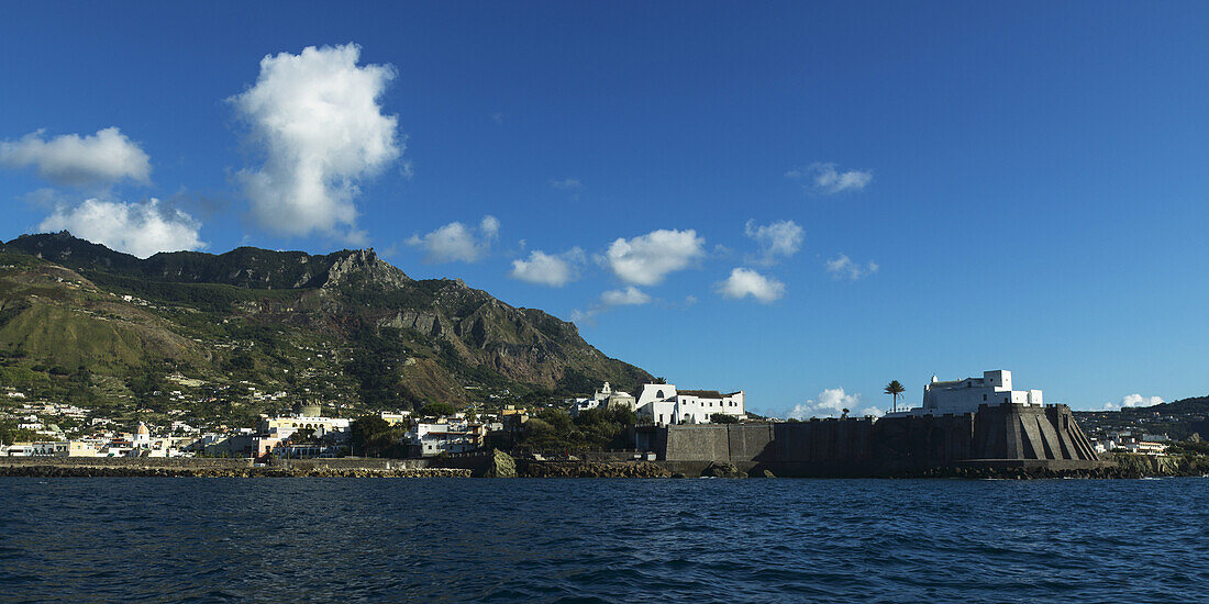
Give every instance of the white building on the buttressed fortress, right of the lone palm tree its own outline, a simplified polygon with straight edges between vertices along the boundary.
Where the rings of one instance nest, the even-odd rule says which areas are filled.
[[[924,387],[924,405],[920,407],[887,413],[886,417],[919,416],[962,416],[977,413],[978,407],[991,407],[1003,403],[1042,406],[1041,390],[1012,390],[1011,371],[984,371],[980,378],[966,378],[953,382],[932,381]]]

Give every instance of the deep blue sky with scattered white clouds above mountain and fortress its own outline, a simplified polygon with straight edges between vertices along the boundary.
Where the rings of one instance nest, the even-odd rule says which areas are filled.
[[[679,388],[1209,394],[1209,5],[0,1],[0,238],[374,248]]]

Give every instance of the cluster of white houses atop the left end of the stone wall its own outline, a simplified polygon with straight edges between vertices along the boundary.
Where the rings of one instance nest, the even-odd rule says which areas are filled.
[[[722,394],[717,390],[677,390],[675,384],[642,384],[637,397],[613,390],[608,382],[589,399],[575,399],[572,414],[598,407],[624,406],[638,416],[640,423],[708,424],[710,416],[723,413],[745,419],[744,391]]]

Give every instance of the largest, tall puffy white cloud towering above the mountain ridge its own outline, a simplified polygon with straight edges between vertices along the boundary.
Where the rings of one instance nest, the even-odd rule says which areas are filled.
[[[259,170],[238,174],[265,228],[287,236],[352,230],[358,179],[401,153],[398,118],[378,105],[394,69],[358,66],[359,57],[354,43],[266,56],[256,85],[230,99],[265,151]]]

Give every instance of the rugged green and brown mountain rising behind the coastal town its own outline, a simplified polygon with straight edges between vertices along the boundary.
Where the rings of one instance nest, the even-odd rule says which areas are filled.
[[[374,250],[140,260],[66,232],[0,246],[0,354],[2,385],[227,412],[300,397],[346,410],[525,402],[652,379],[571,323],[461,279],[411,279]]]

